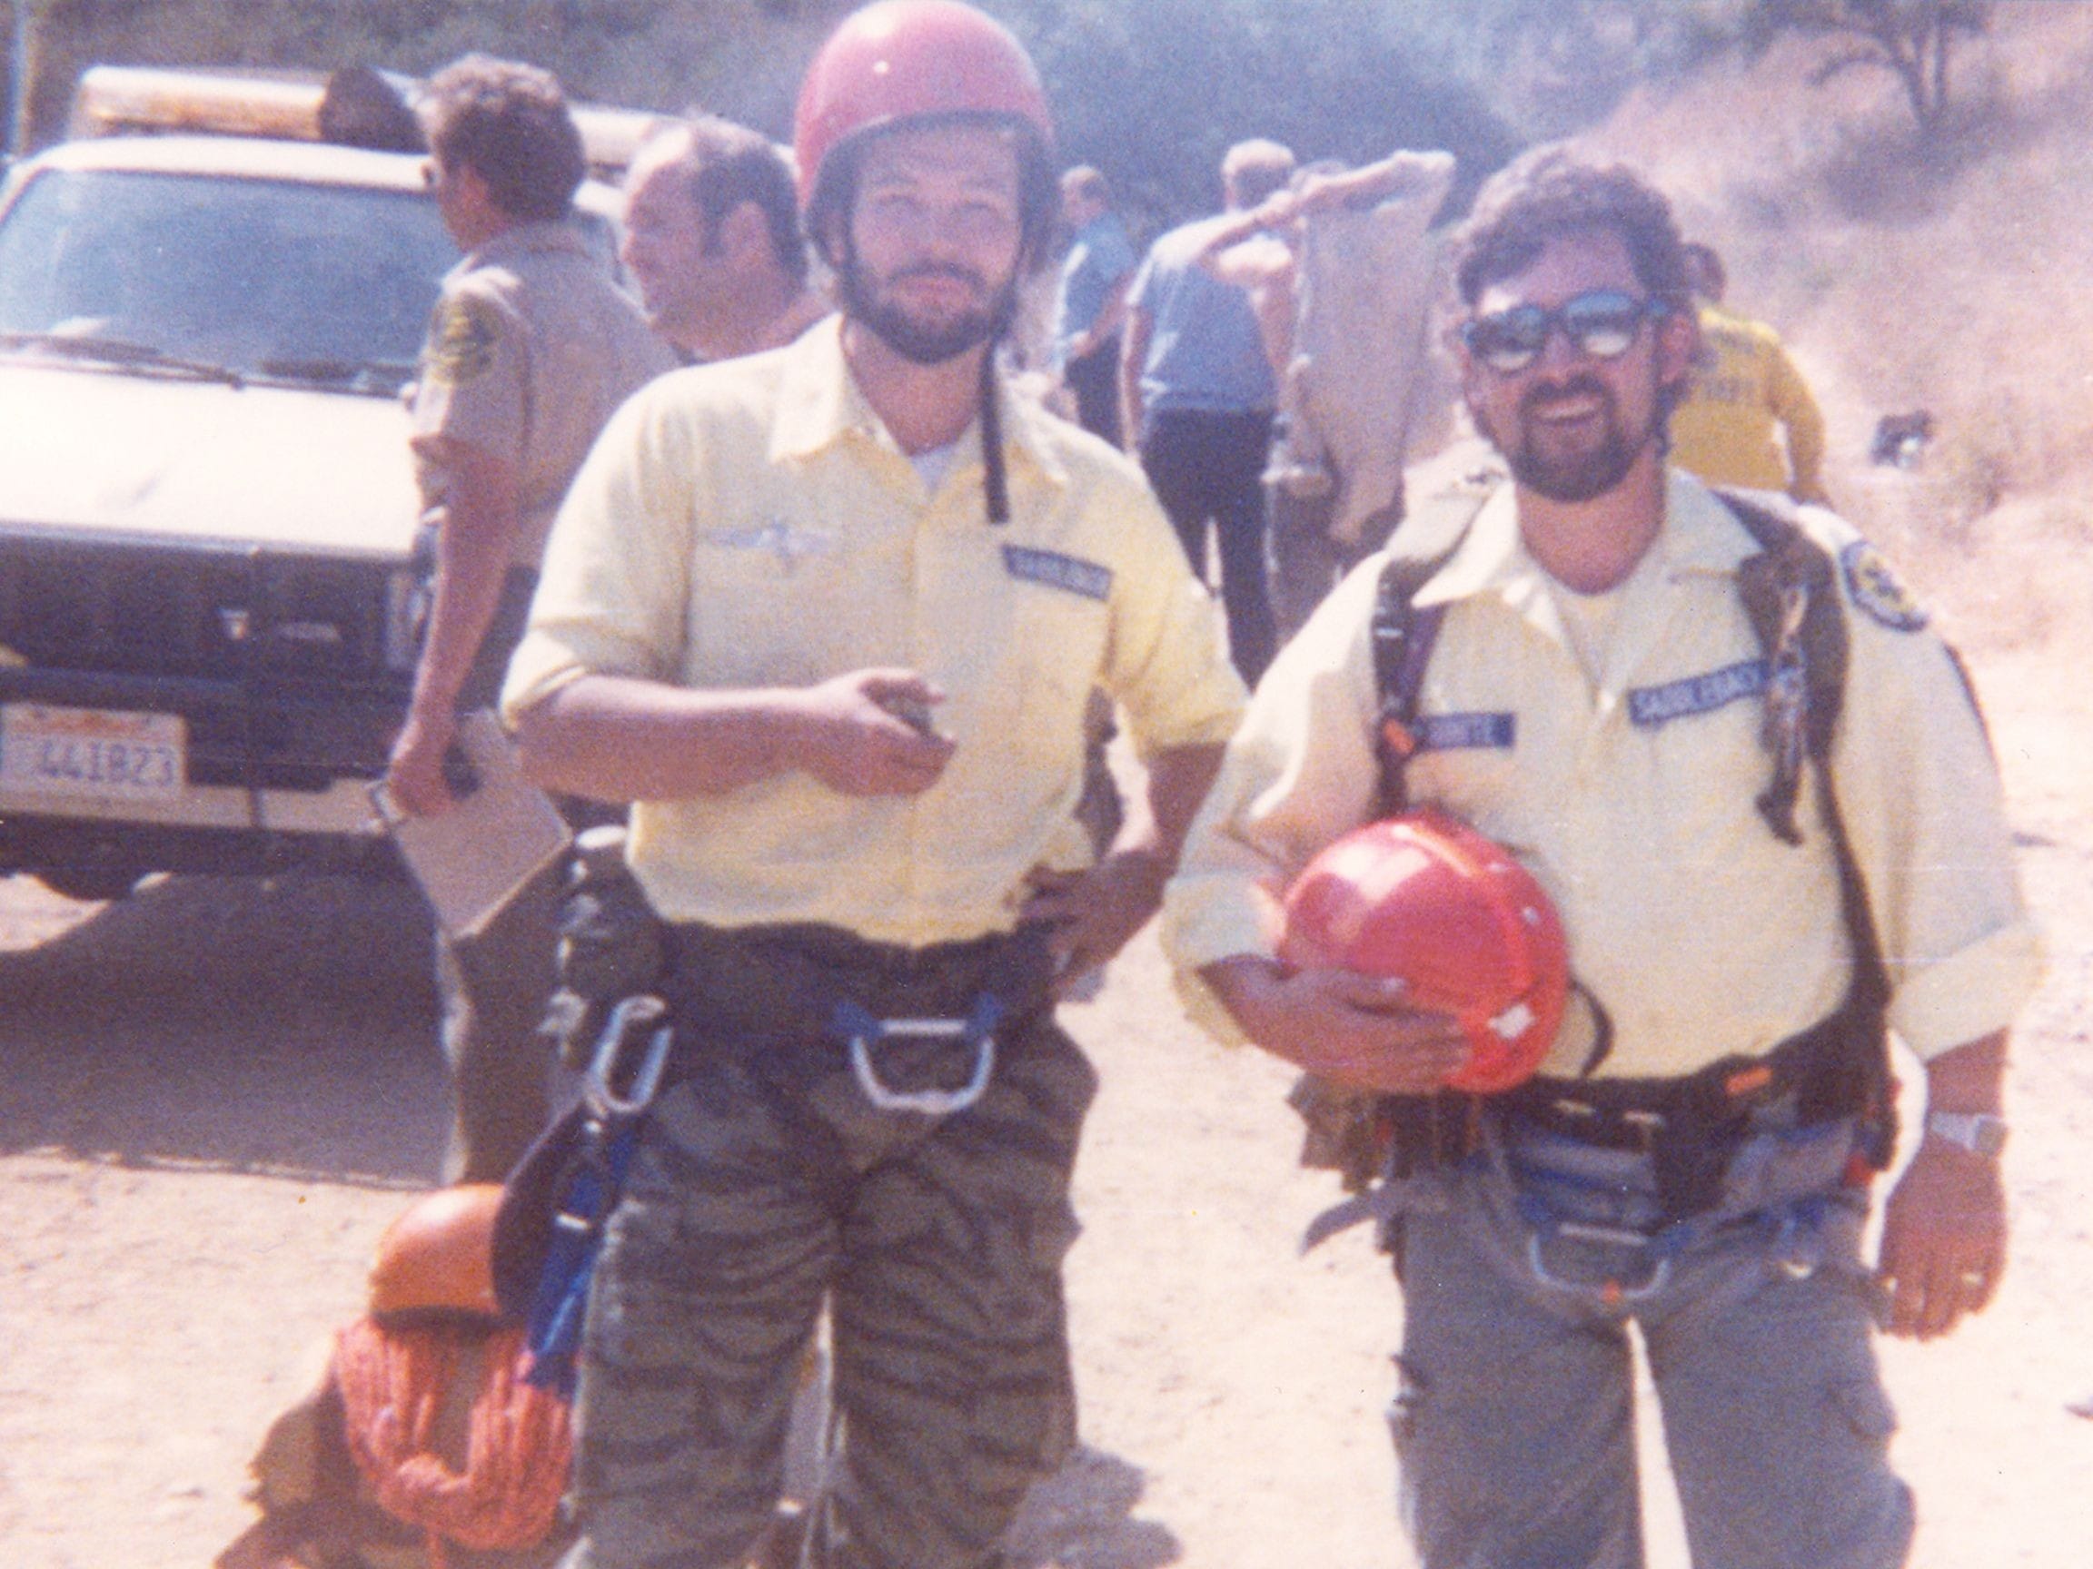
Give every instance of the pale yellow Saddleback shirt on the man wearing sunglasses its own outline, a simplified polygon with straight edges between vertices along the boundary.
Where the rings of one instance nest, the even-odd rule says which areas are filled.
[[[1810,533],[1840,559],[1852,659],[1831,776],[1890,971],[1890,1021],[1930,1056],[2005,1027],[2041,948],[2013,877],[1999,778],[1946,649],[1880,556],[1829,513]],[[1605,615],[1599,678],[1520,544],[1499,490],[1419,590],[1446,605],[1419,703],[1417,805],[1509,847],[1555,900],[1576,979],[1612,1017],[1601,1075],[1691,1073],[1760,1054],[1829,1015],[1850,977],[1838,860],[1804,789],[1800,847],[1754,808],[1764,661],[1737,596],[1758,546],[1672,471],[1666,523]],[[1270,954],[1277,900],[1373,803],[1369,559],[1281,653],[1193,828],[1164,939],[1189,975]],[[1218,1002],[1191,981],[1201,1017]],[[1593,1042],[1572,1010],[1545,1071]]]

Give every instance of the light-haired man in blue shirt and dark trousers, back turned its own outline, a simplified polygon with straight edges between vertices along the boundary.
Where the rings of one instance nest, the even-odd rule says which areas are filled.
[[[1220,163],[1222,213],[1180,224],[1134,274],[1120,351],[1120,412],[1155,498],[1193,571],[1206,571],[1208,523],[1220,548],[1229,655],[1256,684],[1273,659],[1264,561],[1264,458],[1279,383],[1250,295],[1212,276],[1199,257],[1216,226],[1293,176],[1293,155],[1270,140],[1237,142]]]

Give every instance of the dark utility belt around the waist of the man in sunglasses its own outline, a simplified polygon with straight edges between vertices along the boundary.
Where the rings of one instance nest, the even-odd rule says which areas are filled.
[[[1725,1056],[1664,1079],[1534,1077],[1501,1094],[1386,1102],[1390,1174],[1450,1165],[1482,1149],[1482,1119],[1597,1149],[1647,1155],[1668,1220],[1716,1203],[1723,1174],[1748,1138],[1854,1119],[1861,1159],[1890,1163],[1888,1059],[1882,1019],[1848,1002],[1764,1056]]]

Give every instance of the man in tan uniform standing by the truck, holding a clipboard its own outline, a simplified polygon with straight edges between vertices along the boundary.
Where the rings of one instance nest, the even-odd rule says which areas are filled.
[[[670,364],[567,222],[586,165],[559,82],[473,54],[429,82],[423,117],[429,182],[465,257],[444,278],[410,406],[433,584],[385,776],[410,816],[452,805],[458,713],[500,690],[567,481],[611,410]],[[550,904],[540,881],[477,937],[437,935],[452,1182],[500,1182],[544,1125]]]

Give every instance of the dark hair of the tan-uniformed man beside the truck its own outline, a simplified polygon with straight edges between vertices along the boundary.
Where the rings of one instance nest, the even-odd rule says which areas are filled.
[[[429,77],[421,107],[446,169],[488,182],[517,220],[565,218],[588,163],[559,77],[536,65],[467,54]]]

